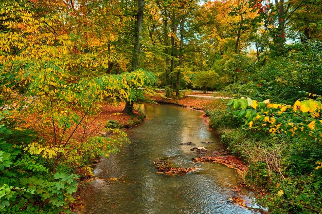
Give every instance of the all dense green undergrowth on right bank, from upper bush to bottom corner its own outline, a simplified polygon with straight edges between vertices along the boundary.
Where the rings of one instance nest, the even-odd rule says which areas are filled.
[[[223,143],[248,164],[247,183],[264,207],[271,213],[321,213],[322,46],[289,48],[249,74],[253,81],[226,87],[237,98],[227,109],[207,113]]]

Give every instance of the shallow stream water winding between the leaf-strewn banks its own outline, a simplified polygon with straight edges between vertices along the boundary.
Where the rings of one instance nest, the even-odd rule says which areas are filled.
[[[200,112],[174,105],[141,104],[140,108],[149,120],[127,131],[131,144],[101,159],[94,170],[98,179],[84,190],[78,213],[253,213],[228,200],[237,195],[232,187],[240,181],[234,169],[191,162],[196,156],[192,147],[221,147]],[[180,145],[185,142],[194,145]],[[201,170],[176,176],[158,174],[153,161],[165,156]],[[251,193],[241,192],[239,197],[249,199]]]

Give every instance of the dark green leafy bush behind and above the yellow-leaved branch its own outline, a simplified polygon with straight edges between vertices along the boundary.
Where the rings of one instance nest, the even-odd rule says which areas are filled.
[[[257,68],[252,77],[261,85],[256,93],[265,95],[262,100],[290,104],[303,96],[300,91],[322,94],[322,62],[317,60],[322,54],[322,43],[295,44],[288,48],[288,55],[272,58],[265,67]]]

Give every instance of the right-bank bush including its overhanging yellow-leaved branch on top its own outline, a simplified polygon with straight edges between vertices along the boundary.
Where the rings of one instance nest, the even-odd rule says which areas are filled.
[[[322,212],[320,100],[316,95],[293,107],[249,98],[228,103],[226,116],[244,125],[222,141],[248,163],[247,182],[266,193],[259,202],[271,213]]]

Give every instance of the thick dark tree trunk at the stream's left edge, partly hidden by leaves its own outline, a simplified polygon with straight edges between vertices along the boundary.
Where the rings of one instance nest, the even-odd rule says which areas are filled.
[[[138,63],[139,63],[140,39],[141,39],[141,31],[142,31],[142,24],[143,24],[143,10],[144,10],[144,0],[138,0],[136,26],[135,26],[135,42],[134,42],[133,59],[132,59],[132,71],[137,69]],[[133,104],[134,104],[133,101],[127,100],[123,112],[132,115]]]

